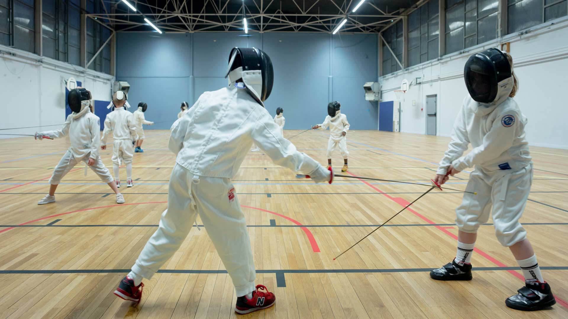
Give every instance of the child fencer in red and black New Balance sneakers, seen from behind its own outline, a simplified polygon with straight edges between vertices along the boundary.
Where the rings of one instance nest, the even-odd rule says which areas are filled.
[[[168,209],[132,271],[114,292],[122,299],[140,301],[142,279],[152,278],[176,253],[199,214],[235,285],[235,312],[272,306],[274,294],[254,284],[247,220],[231,179],[254,141],[277,165],[304,172],[315,182],[332,182],[331,170],[298,152],[279,134],[278,125],[264,108],[262,101],[273,83],[268,55],[256,48],[233,48],[229,56],[229,86],[203,93],[172,125],[169,149],[177,158],[169,181]]]

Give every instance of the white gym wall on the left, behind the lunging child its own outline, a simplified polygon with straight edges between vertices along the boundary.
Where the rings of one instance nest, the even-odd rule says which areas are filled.
[[[114,77],[0,45],[0,131],[32,134],[65,122],[65,79],[82,81],[95,100],[110,100]],[[0,136],[9,138],[11,136]],[[16,136],[12,136],[16,137]]]

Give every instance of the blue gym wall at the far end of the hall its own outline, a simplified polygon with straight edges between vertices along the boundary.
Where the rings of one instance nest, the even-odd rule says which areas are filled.
[[[363,84],[377,81],[376,35],[324,33],[118,33],[116,79],[128,81],[128,101],[148,103],[148,129],[169,129],[183,100],[192,105],[203,91],[227,85],[233,47],[257,47],[274,65],[274,87],[265,106],[284,108],[285,129],[321,123],[327,103],[338,100],[351,129],[377,129],[377,102],[367,102]],[[133,111],[133,110],[132,110]],[[170,121],[171,120],[171,121]]]

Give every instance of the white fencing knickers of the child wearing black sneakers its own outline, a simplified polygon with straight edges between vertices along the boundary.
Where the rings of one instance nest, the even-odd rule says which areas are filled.
[[[462,232],[477,233],[487,223],[492,211],[495,236],[501,245],[510,247],[527,238],[519,223],[532,184],[532,164],[502,176],[502,170],[486,174],[478,167],[470,174],[462,204],[456,209],[456,225]]]

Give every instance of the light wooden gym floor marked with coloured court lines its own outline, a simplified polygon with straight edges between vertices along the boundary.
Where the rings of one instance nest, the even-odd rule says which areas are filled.
[[[82,163],[62,181],[56,203],[37,205],[69,141],[0,140],[0,318],[236,317],[231,279],[204,228],[194,227],[174,257],[145,280],[138,308],[112,294],[166,208],[175,162],[168,133],[146,130],[145,153],[136,153],[133,163],[136,184],[120,189],[122,205],[92,171],[83,176]],[[310,131],[292,141],[325,163],[327,138],[328,132]],[[378,131],[349,131],[347,138],[349,174],[426,184],[449,140]],[[273,291],[277,303],[243,318],[568,317],[568,151],[531,150],[534,181],[521,222],[558,297],[551,309],[523,313],[505,306],[523,285],[522,275],[490,224],[479,230],[474,280],[429,278],[429,270],[456,253],[459,192],[432,191],[333,261],[428,188],[347,178],[314,184],[251,152],[234,183],[249,225],[256,283]],[[111,150],[101,156],[111,167]],[[333,159],[337,172],[343,164],[338,150]],[[120,174],[125,185],[126,171]],[[464,189],[467,178],[461,173],[447,186]]]

